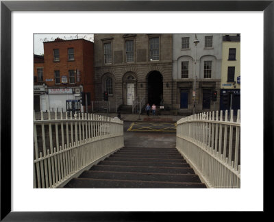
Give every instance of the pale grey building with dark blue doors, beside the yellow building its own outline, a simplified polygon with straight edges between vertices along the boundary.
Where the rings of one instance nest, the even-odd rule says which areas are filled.
[[[175,109],[184,114],[219,110],[219,93],[216,101],[212,93],[220,91],[222,42],[222,34],[173,34]]]

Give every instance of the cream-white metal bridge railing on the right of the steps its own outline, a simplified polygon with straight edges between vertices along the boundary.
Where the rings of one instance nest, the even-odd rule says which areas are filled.
[[[216,116],[215,116],[216,114]],[[234,117],[236,119],[234,119]],[[176,147],[209,188],[240,188],[240,110],[177,121]]]

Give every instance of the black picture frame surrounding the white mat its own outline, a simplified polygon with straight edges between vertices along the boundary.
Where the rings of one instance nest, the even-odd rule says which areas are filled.
[[[1,1],[1,221],[162,221],[181,212],[12,212],[11,13],[12,11],[263,11],[264,12],[264,212],[273,191],[266,164],[273,162],[274,3],[271,1]],[[256,119],[256,116],[254,116]],[[256,178],[254,178],[256,180]],[[186,213],[186,212],[185,212]]]

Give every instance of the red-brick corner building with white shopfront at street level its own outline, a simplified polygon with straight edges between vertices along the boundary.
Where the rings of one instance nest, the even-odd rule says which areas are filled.
[[[56,38],[44,43],[44,82],[46,110],[67,110],[66,101],[88,95],[95,99],[93,42]],[[78,103],[79,104],[79,103]],[[79,106],[80,107],[80,106]],[[91,105],[88,106],[91,109]],[[81,106],[81,111],[86,110]]]

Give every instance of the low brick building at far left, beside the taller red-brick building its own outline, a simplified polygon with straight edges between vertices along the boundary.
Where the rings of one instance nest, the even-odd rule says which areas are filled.
[[[34,54],[34,110],[42,110],[45,98],[44,56]]]

